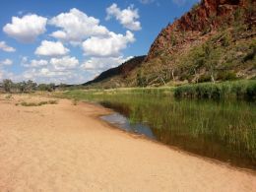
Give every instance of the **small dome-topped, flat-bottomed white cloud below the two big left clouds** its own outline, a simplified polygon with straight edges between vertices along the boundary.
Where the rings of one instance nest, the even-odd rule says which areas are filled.
[[[34,54],[41,56],[61,56],[69,52],[61,42],[53,42],[48,40],[41,41],[40,46],[36,48]]]

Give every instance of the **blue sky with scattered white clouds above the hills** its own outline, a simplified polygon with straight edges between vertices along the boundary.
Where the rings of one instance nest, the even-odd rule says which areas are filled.
[[[0,81],[82,84],[147,54],[198,0],[1,0]]]

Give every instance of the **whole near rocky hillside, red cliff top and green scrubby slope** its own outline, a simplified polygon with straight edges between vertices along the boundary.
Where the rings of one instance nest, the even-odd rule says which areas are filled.
[[[113,87],[255,79],[255,55],[256,0],[203,0],[162,29],[144,62]]]

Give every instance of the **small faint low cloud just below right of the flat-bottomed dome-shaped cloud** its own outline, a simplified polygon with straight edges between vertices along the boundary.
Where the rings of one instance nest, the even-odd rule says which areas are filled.
[[[62,58],[52,58],[50,64],[58,71],[67,71],[75,69],[79,65],[76,57],[65,56]]]

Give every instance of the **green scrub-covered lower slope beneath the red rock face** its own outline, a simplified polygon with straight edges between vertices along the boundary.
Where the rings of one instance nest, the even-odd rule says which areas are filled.
[[[237,35],[241,36],[239,40],[234,39]],[[253,79],[256,76],[256,39],[247,40],[250,35],[250,32],[233,33],[227,29],[187,51],[163,52],[138,69],[137,79],[143,79],[144,84],[138,84],[137,80],[134,85],[145,87],[168,82],[175,85],[184,81],[202,83]]]

